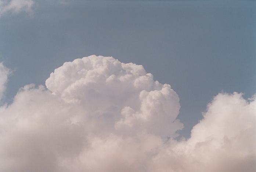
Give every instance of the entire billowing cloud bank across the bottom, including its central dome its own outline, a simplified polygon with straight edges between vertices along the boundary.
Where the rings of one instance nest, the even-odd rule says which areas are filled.
[[[179,97],[143,66],[89,56],[0,111],[1,172],[254,172],[256,101],[219,94],[176,141]]]

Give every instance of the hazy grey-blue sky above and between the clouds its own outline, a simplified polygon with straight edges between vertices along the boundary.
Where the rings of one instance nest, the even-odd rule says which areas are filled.
[[[13,70],[4,102],[92,54],[143,65],[170,84],[186,138],[219,92],[256,93],[255,1],[36,1],[0,15],[0,61]]]

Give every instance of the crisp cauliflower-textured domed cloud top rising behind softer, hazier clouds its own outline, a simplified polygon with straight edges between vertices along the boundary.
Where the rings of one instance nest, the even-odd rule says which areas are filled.
[[[46,87],[66,102],[82,105],[94,122],[111,131],[134,134],[139,127],[170,136],[183,127],[176,121],[176,92],[154,81],[141,65],[103,56],[76,59],[55,69]]]

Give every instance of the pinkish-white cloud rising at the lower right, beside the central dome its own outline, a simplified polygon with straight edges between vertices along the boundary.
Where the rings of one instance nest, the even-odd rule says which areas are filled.
[[[191,138],[171,141],[153,158],[152,171],[256,170],[256,100],[220,93],[208,105]]]

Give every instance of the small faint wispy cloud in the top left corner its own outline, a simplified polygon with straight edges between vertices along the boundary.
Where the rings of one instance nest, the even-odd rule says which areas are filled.
[[[0,16],[11,12],[17,14],[25,11],[28,14],[33,14],[33,0],[0,0]]]

